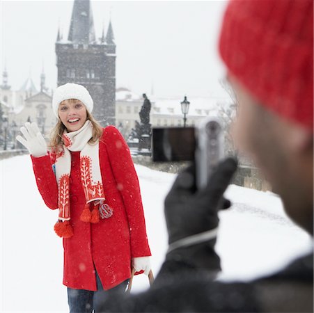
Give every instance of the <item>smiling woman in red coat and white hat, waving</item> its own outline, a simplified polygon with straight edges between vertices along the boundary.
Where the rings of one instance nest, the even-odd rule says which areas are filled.
[[[92,312],[95,291],[124,291],[131,266],[150,271],[139,181],[118,129],[102,129],[91,115],[86,88],[66,83],[52,102],[58,122],[50,152],[36,123],[17,140],[31,154],[45,204],[59,211],[54,230],[63,237],[70,313]]]

